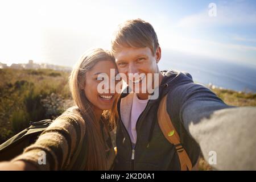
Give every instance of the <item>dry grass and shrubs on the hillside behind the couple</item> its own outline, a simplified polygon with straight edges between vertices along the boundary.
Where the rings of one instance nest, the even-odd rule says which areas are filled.
[[[0,143],[26,127],[24,121],[54,118],[73,105],[68,76],[67,72],[51,69],[0,69]],[[210,89],[228,105],[256,106],[255,93]],[[43,104],[47,105],[47,109]],[[211,169],[203,157],[200,158],[199,169]]]

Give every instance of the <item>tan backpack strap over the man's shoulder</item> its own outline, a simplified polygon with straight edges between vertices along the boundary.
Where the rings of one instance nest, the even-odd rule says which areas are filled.
[[[171,118],[167,113],[166,101],[167,101],[167,95],[162,98],[158,107],[158,124],[160,126],[160,129],[162,130],[162,133],[164,134],[164,137],[170,143],[174,144],[176,148],[177,155],[179,156],[179,160],[180,160],[181,171],[187,171],[187,170],[191,171],[192,169],[191,160],[189,159],[187,152],[185,151],[182,144],[180,143],[179,134],[175,130],[174,125],[172,125]]]

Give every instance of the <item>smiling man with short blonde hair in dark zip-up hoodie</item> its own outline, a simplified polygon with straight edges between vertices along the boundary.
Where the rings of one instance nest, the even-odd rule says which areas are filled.
[[[191,169],[200,151],[206,159],[216,154],[213,167],[217,169],[256,169],[255,109],[226,105],[208,88],[195,84],[188,73],[160,72],[161,49],[150,23],[134,19],[119,25],[112,40],[112,52],[119,73],[126,75],[133,90],[123,92],[117,105],[115,169]],[[143,83],[146,92],[142,92]],[[139,92],[134,92],[136,86]],[[154,92],[148,88],[154,88]],[[157,97],[151,99],[155,93]],[[165,96],[166,112],[179,135],[179,145],[165,138],[158,123],[159,103]],[[170,136],[173,134],[174,131]],[[180,158],[184,155],[179,152],[183,150],[190,167],[181,166]]]

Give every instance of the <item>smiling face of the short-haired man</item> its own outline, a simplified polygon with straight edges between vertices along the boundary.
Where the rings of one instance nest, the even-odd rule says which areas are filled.
[[[160,47],[156,50],[155,55],[152,54],[150,48],[132,48],[122,47],[121,51],[114,54],[115,63],[117,64],[118,72],[123,73],[129,79],[129,73],[140,75],[144,73],[146,77],[140,77],[139,79],[129,79],[133,85],[139,84],[139,89],[142,87],[142,80],[149,78],[148,73],[152,73],[152,82],[147,86],[151,86],[154,82],[154,73],[159,73],[158,61],[161,57]],[[127,79],[127,81],[128,81]],[[128,84],[128,83],[127,83]]]

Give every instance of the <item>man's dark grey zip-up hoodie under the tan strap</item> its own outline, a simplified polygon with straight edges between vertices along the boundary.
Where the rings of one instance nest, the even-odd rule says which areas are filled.
[[[115,169],[180,169],[175,146],[164,138],[156,117],[159,102],[166,94],[168,114],[192,165],[196,164],[201,148],[204,158],[213,168],[256,169],[255,108],[226,105],[208,88],[195,84],[188,73],[173,70],[162,73],[164,78],[159,86],[159,98],[149,100],[138,118],[134,148],[119,119]],[[118,102],[119,118],[130,115],[130,95],[121,95]]]

